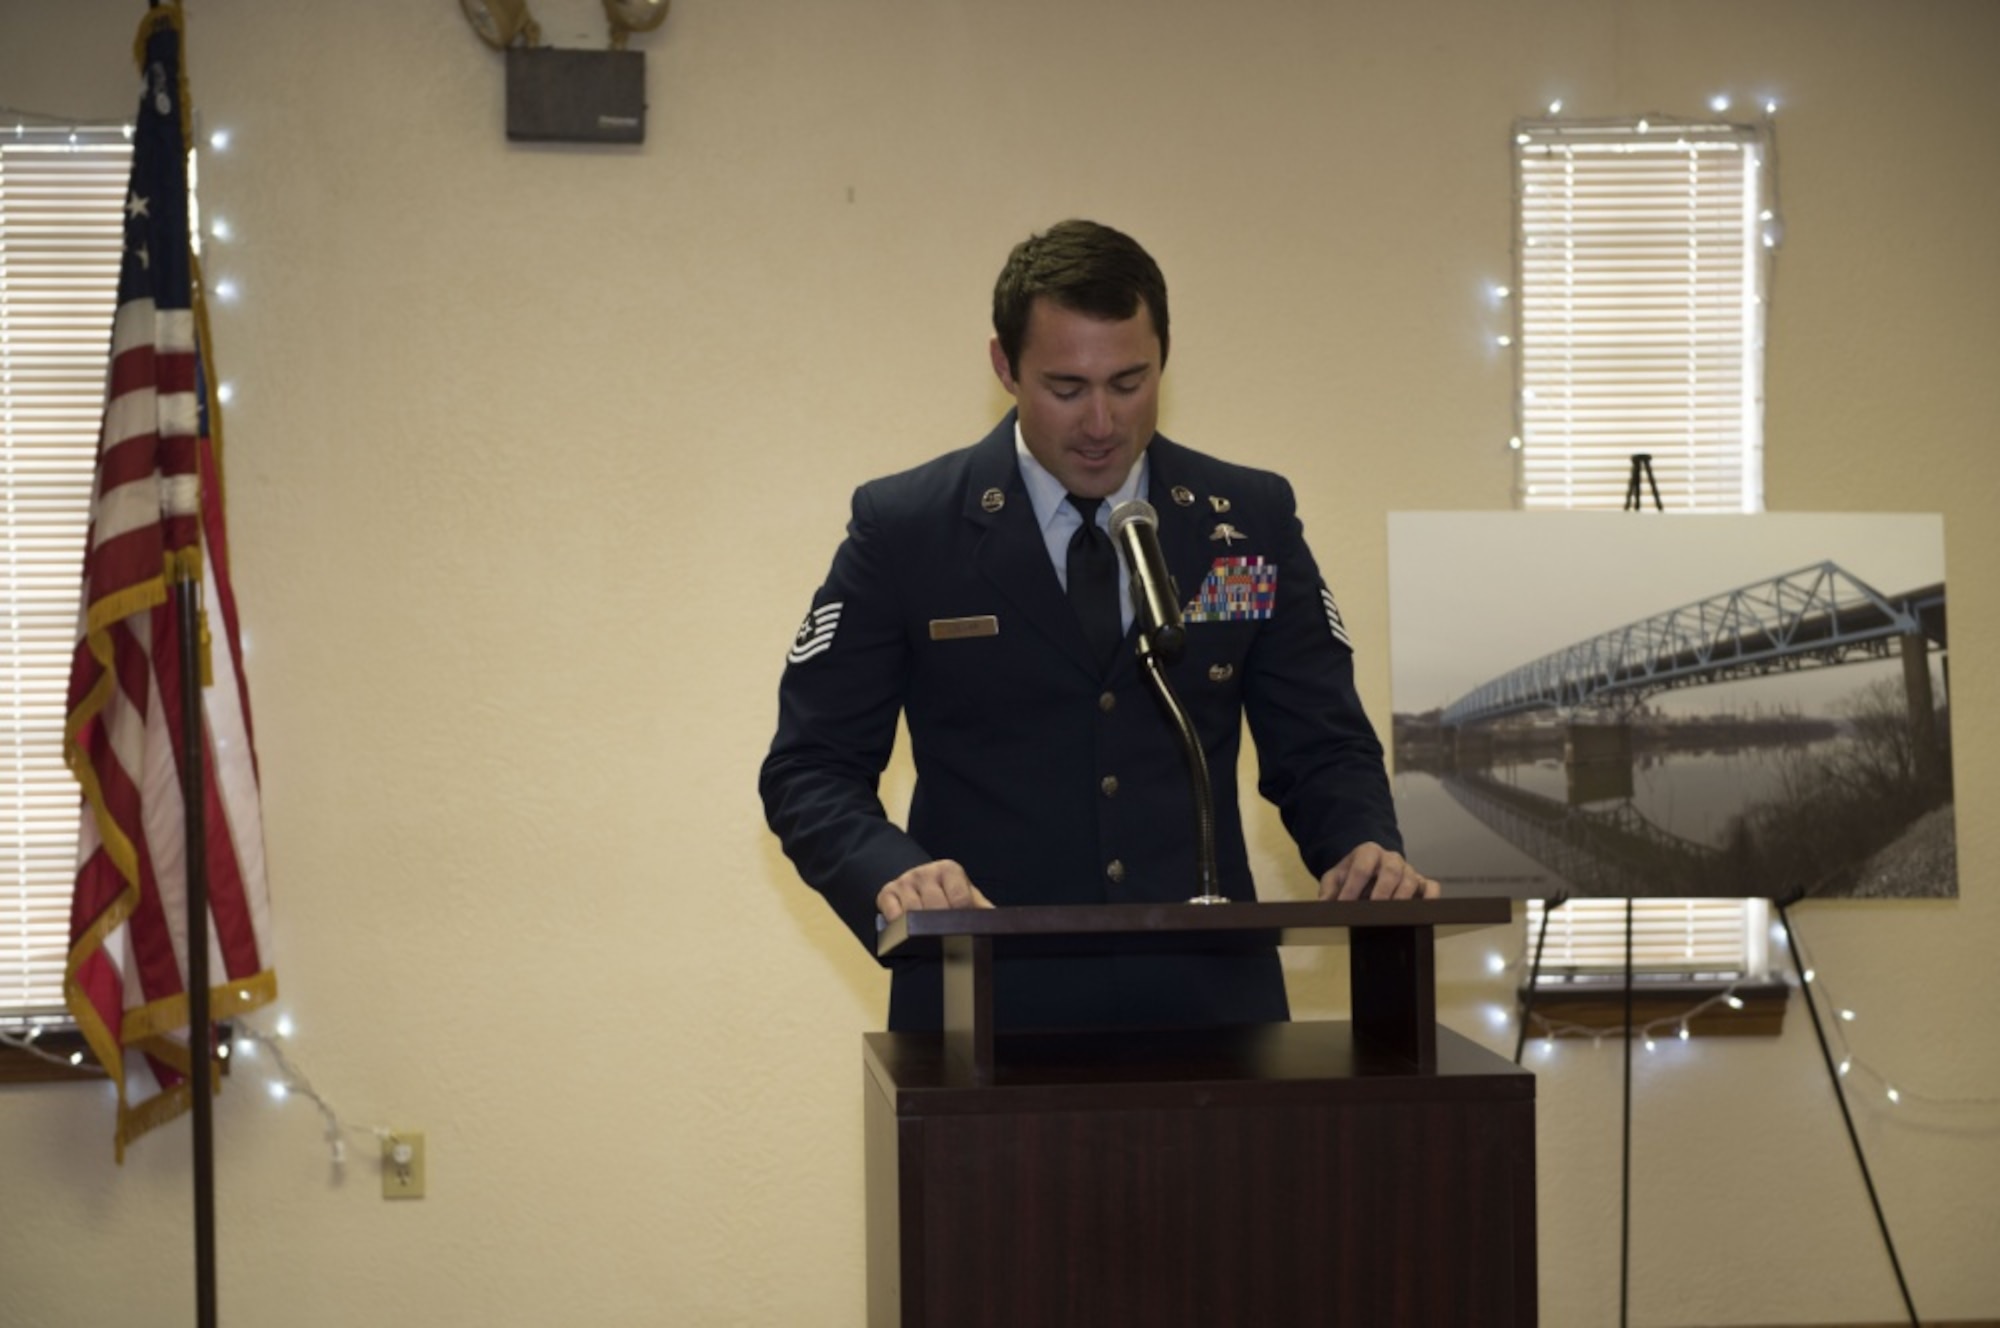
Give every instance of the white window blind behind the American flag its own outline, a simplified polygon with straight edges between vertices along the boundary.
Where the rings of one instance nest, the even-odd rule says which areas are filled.
[[[130,162],[120,128],[0,130],[0,1026],[62,1012],[62,722]]]

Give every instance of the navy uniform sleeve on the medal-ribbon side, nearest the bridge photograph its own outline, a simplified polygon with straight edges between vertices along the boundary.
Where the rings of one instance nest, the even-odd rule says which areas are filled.
[[[1280,484],[1278,600],[1250,650],[1244,712],[1258,792],[1278,806],[1306,870],[1324,876],[1356,844],[1402,852],[1382,744],[1354,692],[1354,646]]]

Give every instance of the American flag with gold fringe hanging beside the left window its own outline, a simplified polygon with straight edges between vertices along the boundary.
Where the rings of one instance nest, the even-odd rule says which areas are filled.
[[[188,228],[180,6],[140,26],[124,262],[64,758],[84,790],[64,998],[118,1084],[118,1158],[188,1110],[184,688],[202,688],[208,972],[216,1018],[278,994],[250,692],[222,530],[220,416]],[[202,594],[202,678],[180,664],[170,586]],[[210,634],[210,624],[220,634]],[[220,1080],[216,1080],[220,1082]]]

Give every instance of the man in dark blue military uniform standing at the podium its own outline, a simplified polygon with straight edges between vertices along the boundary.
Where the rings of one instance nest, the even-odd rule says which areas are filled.
[[[982,442],[854,494],[758,786],[786,854],[870,952],[880,920],[912,908],[1198,892],[1186,762],[1134,656],[1128,572],[1106,562],[1110,510],[1130,498],[1158,510],[1186,604],[1166,672],[1208,756],[1222,892],[1256,896],[1236,806],[1248,718],[1258,790],[1320,898],[1438,894],[1402,858],[1352,644],[1290,484],[1156,432],[1166,356],[1152,256],[1108,226],[1052,226],[994,288],[992,368],[1014,410]],[[916,760],[906,830],[876,796],[898,712]],[[1000,1028],[1288,1014],[1268,948],[1004,960],[994,1004]],[[936,1028],[940,1012],[938,964],[896,964],[888,1026]]]

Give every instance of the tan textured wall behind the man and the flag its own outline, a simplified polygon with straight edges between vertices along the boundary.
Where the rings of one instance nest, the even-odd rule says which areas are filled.
[[[1386,718],[1384,514],[1510,500],[1510,120],[1718,88],[1784,98],[1770,506],[1948,522],[1964,898],[1800,926],[1868,1060],[1988,1102],[1858,1128],[1926,1318],[2000,1314],[2000,8],[686,0],[612,152],[508,146],[444,0],[190,8],[284,1008],[354,1122],[428,1130],[432,1188],[330,1176],[244,1074],[228,1322],[858,1324],[882,982],[752,782],[848,490],[998,412],[1006,246],[1154,248],[1166,428],[1296,480]],[[0,104],[122,118],[138,12],[0,0]],[[1510,1046],[1500,944],[1448,942],[1446,1004]],[[1540,1080],[1550,1324],[1616,1316],[1618,1102],[1612,1048]],[[1654,1058],[1636,1130],[1632,1322],[1898,1316],[1804,1020]],[[178,1322],[184,1138],[118,1172],[104,1090],[0,1092],[0,1324]]]

